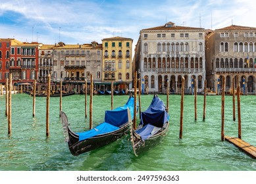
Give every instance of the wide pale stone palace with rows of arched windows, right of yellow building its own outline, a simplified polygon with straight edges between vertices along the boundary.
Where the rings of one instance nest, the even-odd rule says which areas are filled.
[[[197,93],[203,91],[205,81],[205,29],[176,26],[168,22],[164,26],[140,31],[136,51],[140,51],[135,64],[143,92],[166,93],[166,81],[170,92],[180,93],[182,77],[185,93],[192,93],[192,78],[197,81]]]

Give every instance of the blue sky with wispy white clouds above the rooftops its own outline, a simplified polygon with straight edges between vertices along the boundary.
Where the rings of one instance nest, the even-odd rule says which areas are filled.
[[[232,22],[256,27],[255,7],[252,0],[0,0],[0,37],[83,44],[122,36],[136,44],[140,30],[166,21],[213,30]]]

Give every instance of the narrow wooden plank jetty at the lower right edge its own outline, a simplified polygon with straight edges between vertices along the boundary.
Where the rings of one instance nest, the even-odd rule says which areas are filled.
[[[250,145],[249,143],[246,143],[245,141],[237,137],[225,136],[224,138],[226,141],[234,144],[240,150],[243,150],[243,152],[256,159],[256,147],[254,147],[253,145]]]

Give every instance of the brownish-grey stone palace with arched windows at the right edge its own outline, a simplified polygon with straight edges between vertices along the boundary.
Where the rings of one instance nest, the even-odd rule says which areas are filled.
[[[226,91],[232,89],[234,80],[235,87],[240,83],[243,93],[255,94],[256,28],[220,28],[206,36],[206,46],[208,87],[218,93],[225,78]]]

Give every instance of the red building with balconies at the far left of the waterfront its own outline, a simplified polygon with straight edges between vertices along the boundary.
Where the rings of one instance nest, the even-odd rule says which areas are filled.
[[[33,82],[38,79],[37,42],[22,43],[16,39],[0,41],[0,82],[13,74],[13,83]]]

